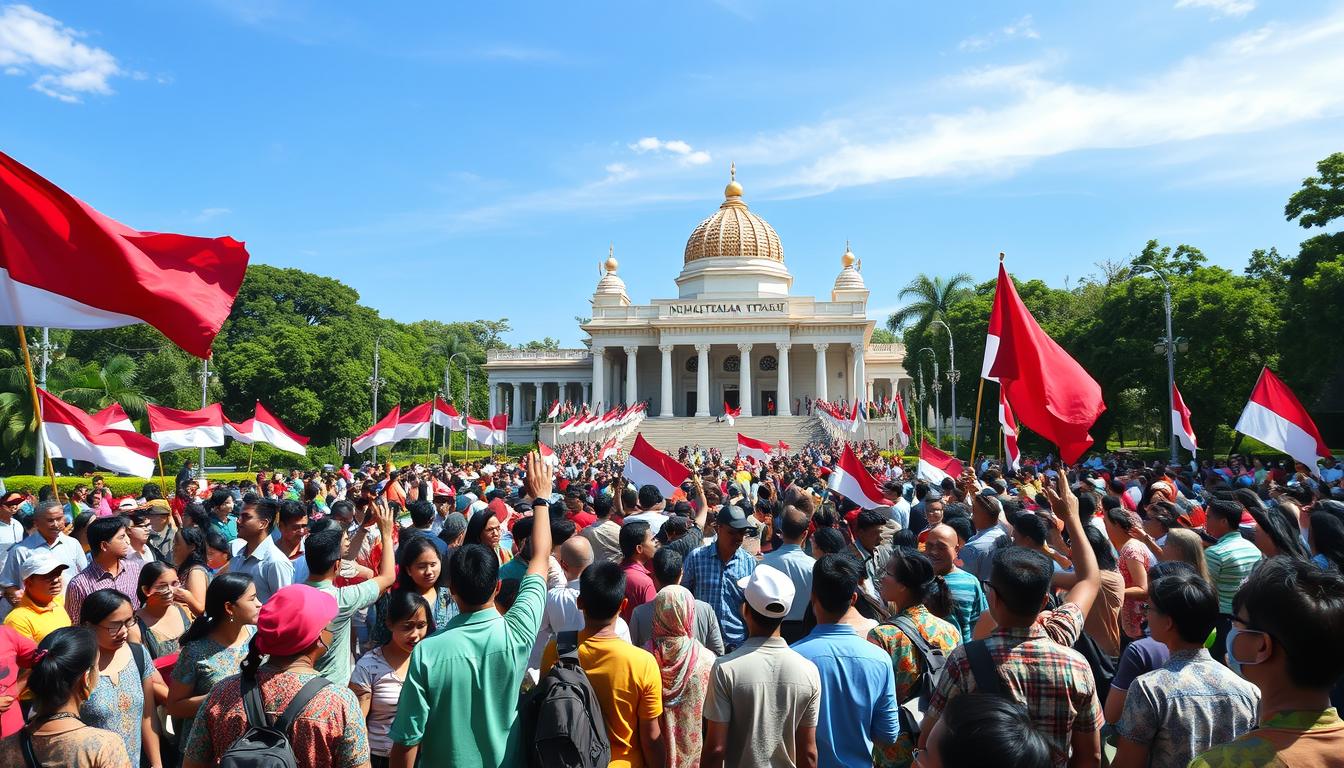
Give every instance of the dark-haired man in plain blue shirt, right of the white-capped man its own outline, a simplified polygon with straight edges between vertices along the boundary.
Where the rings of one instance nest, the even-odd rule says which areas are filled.
[[[841,624],[859,593],[863,569],[848,554],[828,554],[812,569],[817,627],[793,646],[821,675],[817,765],[871,765],[872,745],[899,732],[891,658]]]

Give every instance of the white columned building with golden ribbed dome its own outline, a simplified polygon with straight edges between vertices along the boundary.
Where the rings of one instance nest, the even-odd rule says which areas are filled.
[[[581,325],[587,348],[489,352],[491,414],[512,414],[509,440],[530,441],[556,399],[599,413],[648,399],[650,418],[706,420],[724,404],[742,417],[786,417],[801,416],[805,398],[905,394],[902,344],[870,343],[860,266],[847,245],[829,300],[793,295],[780,235],[747,208],[734,174],[723,204],[687,239],[676,299],[632,304],[609,254]]]

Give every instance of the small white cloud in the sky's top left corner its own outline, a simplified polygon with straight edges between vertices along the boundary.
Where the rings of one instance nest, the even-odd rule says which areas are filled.
[[[82,36],[27,5],[7,5],[0,9],[0,67],[8,75],[32,75],[35,90],[65,102],[110,94],[108,81],[125,73],[116,56],[81,43]]]

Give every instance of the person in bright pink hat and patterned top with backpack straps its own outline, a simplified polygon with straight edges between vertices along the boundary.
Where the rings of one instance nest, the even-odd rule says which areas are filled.
[[[200,706],[183,748],[183,768],[215,765],[247,730],[243,695],[259,695],[270,722],[290,710],[289,742],[300,768],[368,765],[359,699],[328,683],[313,666],[329,648],[327,625],[336,613],[335,597],[304,584],[280,589],[262,605],[242,673],[215,686]]]

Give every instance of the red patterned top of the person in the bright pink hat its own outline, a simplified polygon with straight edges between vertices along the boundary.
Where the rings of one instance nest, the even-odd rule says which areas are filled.
[[[262,668],[258,681],[266,714],[280,717],[314,673],[277,673]],[[204,724],[210,724],[208,726]],[[247,730],[242,679],[234,675],[215,686],[200,705],[183,755],[214,765],[220,755]],[[294,721],[290,738],[300,768],[349,768],[368,761],[368,729],[359,699],[347,687],[327,686],[308,702]]]

